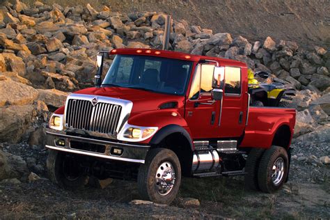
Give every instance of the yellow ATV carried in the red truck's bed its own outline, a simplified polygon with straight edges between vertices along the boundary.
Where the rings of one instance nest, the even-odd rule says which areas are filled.
[[[267,83],[259,83],[255,76],[267,79]],[[290,103],[286,95],[295,95],[294,88],[285,87],[281,83],[272,82],[267,72],[256,72],[248,70],[249,93],[251,95],[251,106],[267,107],[289,107]],[[283,99],[283,100],[282,100]]]

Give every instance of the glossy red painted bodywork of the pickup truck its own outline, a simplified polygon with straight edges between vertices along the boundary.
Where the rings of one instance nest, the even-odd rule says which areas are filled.
[[[139,52],[138,52],[139,50]],[[294,109],[280,108],[256,108],[251,107],[249,111],[249,123],[246,123],[247,112],[247,68],[242,62],[232,61],[223,58],[214,58],[207,56],[196,56],[183,54],[179,52],[169,52],[162,50],[153,50],[146,53],[147,49],[116,49],[116,52],[110,54],[136,54],[141,56],[161,56],[165,58],[176,58],[182,60],[194,61],[194,67],[201,59],[218,61],[221,66],[235,66],[242,70],[242,94],[240,96],[223,95],[221,124],[219,125],[219,112],[221,102],[214,102],[212,105],[199,105],[194,107],[195,102],[187,99],[190,86],[188,86],[186,96],[166,95],[162,93],[151,93],[132,88],[86,88],[76,93],[87,95],[100,95],[106,97],[115,97],[133,102],[132,113],[129,116],[128,123],[138,126],[162,127],[166,125],[180,125],[191,134],[191,139],[220,139],[220,138],[238,138],[244,134],[242,147],[269,148],[272,145],[274,134],[278,127],[288,125],[291,136],[294,129],[295,111]],[[155,54],[160,52],[160,54]],[[186,58],[189,56],[189,58]],[[191,71],[189,85],[191,85]],[[205,96],[198,102],[212,101],[212,97]],[[159,105],[164,102],[178,102],[175,109],[159,109]],[[178,113],[178,116],[172,116],[172,112]],[[212,111],[216,112],[214,124],[211,125]],[[239,123],[239,113],[242,111],[243,120]],[[56,113],[63,113],[61,107]],[[148,143],[150,139],[143,141]]]

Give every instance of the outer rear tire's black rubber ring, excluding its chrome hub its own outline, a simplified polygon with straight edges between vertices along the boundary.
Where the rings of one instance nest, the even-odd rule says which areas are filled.
[[[284,163],[284,172],[281,181],[278,184],[274,184],[272,180],[272,169],[276,159],[282,158]],[[281,189],[285,180],[288,177],[289,159],[288,152],[279,146],[272,146],[268,150],[265,150],[261,157],[258,168],[258,185],[261,191],[266,193],[272,193]]]

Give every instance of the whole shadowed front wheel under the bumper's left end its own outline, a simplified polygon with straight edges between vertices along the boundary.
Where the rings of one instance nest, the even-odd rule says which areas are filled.
[[[50,180],[65,189],[81,189],[88,183],[88,175],[70,154],[49,150],[47,171]]]

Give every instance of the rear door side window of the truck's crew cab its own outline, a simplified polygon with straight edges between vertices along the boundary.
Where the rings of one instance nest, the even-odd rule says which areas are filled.
[[[225,94],[241,94],[241,68],[226,67]]]

